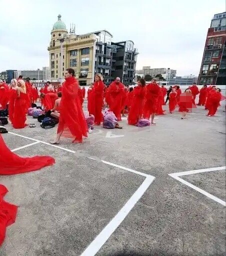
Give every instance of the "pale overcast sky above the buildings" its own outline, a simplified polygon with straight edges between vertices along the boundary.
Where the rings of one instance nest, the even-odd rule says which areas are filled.
[[[207,28],[214,13],[225,11],[225,0],[0,0],[0,9],[0,71],[48,66],[50,32],[60,13],[77,34],[106,29],[113,41],[132,40],[136,69],[197,75]]]

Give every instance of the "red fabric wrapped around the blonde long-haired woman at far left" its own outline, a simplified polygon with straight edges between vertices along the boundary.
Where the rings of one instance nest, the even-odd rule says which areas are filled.
[[[11,123],[14,128],[18,129],[26,126],[27,100],[28,95],[26,93],[20,92],[19,97],[17,93],[14,94],[14,108],[11,117]]]

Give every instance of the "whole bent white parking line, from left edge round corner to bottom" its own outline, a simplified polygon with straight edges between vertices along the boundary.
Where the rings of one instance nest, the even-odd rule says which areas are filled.
[[[19,136],[19,137],[34,140],[34,141],[36,141],[36,143],[38,143],[38,142],[44,143],[44,144],[54,146],[59,149],[68,151],[68,152],[75,153],[75,151],[73,151],[73,150],[70,150],[70,149],[67,149],[67,148],[64,148],[61,146],[53,145],[53,144],[50,144],[50,143],[47,143],[47,142],[44,142],[44,141],[41,141],[38,139],[23,136],[23,135],[14,133],[14,132],[8,132],[8,133],[11,133],[11,134]],[[97,160],[92,157],[87,157],[87,158]],[[80,256],[94,256],[99,251],[99,249],[102,247],[102,245],[107,241],[107,239],[110,237],[110,235],[116,230],[116,228],[120,225],[120,223],[124,220],[124,218],[132,210],[134,205],[137,203],[137,201],[141,198],[141,196],[144,194],[144,192],[150,186],[152,181],[155,179],[155,177],[152,175],[149,175],[149,174],[146,174],[146,173],[143,173],[140,171],[136,171],[136,170],[124,167],[124,166],[120,166],[120,165],[112,163],[112,162],[108,162],[108,161],[104,161],[104,160],[101,160],[101,161],[105,164],[108,164],[108,165],[111,165],[114,167],[118,167],[120,169],[144,176],[145,179],[142,182],[142,184],[136,189],[136,191],[132,194],[132,196],[127,200],[127,202],[123,205],[123,207],[118,211],[118,213],[109,221],[109,223],[102,229],[102,231],[100,231],[100,233],[91,241],[91,243],[80,254]]]

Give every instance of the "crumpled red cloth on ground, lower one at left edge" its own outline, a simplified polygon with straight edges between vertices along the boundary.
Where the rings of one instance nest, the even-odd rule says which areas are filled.
[[[6,227],[15,222],[17,206],[3,200],[8,192],[7,188],[0,184],[0,246],[4,241]]]

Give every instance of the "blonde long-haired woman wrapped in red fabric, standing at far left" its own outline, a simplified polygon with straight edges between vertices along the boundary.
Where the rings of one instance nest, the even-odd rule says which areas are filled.
[[[27,124],[26,113],[28,109],[28,95],[26,93],[26,85],[23,80],[17,81],[16,94],[14,98],[14,108],[12,113],[11,124],[14,128],[24,128]]]

